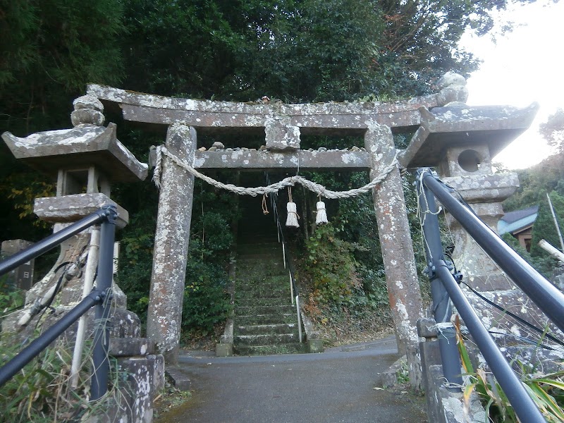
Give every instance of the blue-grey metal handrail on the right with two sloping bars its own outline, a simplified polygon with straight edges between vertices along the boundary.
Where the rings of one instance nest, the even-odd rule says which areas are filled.
[[[424,245],[427,255],[427,274],[431,279],[431,286],[436,281],[441,282],[441,288],[446,290],[446,293],[444,293],[446,295],[443,294],[441,300],[450,298],[455,305],[520,421],[546,422],[539,408],[527,393],[524,384],[513,372],[510,364],[482,324],[462,289],[458,286],[452,274],[453,266],[446,262],[441,244],[435,196],[478,245],[513,279],[517,286],[532,298],[560,330],[563,330],[562,324],[564,323],[564,295],[508,247],[494,231],[470,210],[470,207],[463,205],[450,195],[452,191],[429,168],[421,168],[417,171],[417,192],[422,194],[418,197],[419,209],[429,211],[424,215],[423,231],[426,240]],[[435,298],[437,294],[441,295],[439,290],[433,292],[434,303],[439,300],[439,298]],[[453,357],[453,353],[456,354],[456,357]],[[454,362],[459,363],[458,369],[460,372],[458,351],[452,349],[443,351],[441,349],[441,360],[443,364],[450,363],[447,366],[450,366],[450,370],[448,370],[450,374],[445,372],[445,377],[450,382],[449,377],[456,376],[452,374],[455,367],[453,367]]]

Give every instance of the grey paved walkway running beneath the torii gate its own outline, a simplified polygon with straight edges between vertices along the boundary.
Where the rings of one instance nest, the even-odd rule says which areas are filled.
[[[192,353],[180,357],[192,399],[157,423],[427,422],[424,398],[374,389],[397,359],[393,336],[322,354]]]

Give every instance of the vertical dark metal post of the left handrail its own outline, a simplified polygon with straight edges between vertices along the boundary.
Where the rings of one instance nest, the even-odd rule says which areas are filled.
[[[111,309],[111,283],[114,276],[114,240],[116,235],[117,211],[115,206],[103,207],[106,221],[100,228],[100,250],[96,290],[102,301],[96,306],[94,314],[94,348],[92,352],[91,400],[99,400],[108,390],[109,373],[109,312]]]

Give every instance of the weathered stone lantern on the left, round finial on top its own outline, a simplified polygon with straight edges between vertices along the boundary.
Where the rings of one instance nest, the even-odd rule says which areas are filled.
[[[85,95],[73,102],[71,114],[74,128],[49,130],[27,137],[16,137],[4,133],[2,138],[16,159],[51,178],[56,178],[56,196],[35,199],[33,211],[39,219],[54,223],[59,231],[78,221],[104,205],[113,204],[118,210],[118,228],[128,223],[128,212],[111,200],[111,184],[144,180],[148,166],[142,164],[116,138],[116,125],[107,128],[102,111],[104,106],[93,96]],[[81,252],[90,242],[90,231],[70,238],[61,245],[61,254],[53,269],[63,262],[80,262]],[[83,264],[83,263],[82,263]],[[49,286],[59,278],[59,271],[51,270],[42,281],[27,292],[26,303],[30,305],[41,298]],[[78,302],[82,295],[82,278],[67,276],[61,293],[61,310]],[[114,283],[114,301],[118,309],[126,312],[126,298]],[[118,312],[120,314],[120,312]],[[132,317],[128,327],[114,328],[121,336],[138,336],[138,319]],[[12,324],[17,325],[16,321]],[[8,324],[9,326],[9,324]],[[8,327],[5,329],[21,329]]]

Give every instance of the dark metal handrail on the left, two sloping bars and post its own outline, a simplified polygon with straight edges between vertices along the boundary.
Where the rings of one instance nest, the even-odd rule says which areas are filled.
[[[114,205],[104,206],[90,216],[73,223],[63,230],[50,235],[44,240],[31,245],[25,250],[18,252],[16,255],[8,257],[8,259],[0,262],[0,276],[16,269],[20,264],[28,262],[30,259],[42,255],[44,252],[51,250],[63,243],[63,241],[71,238],[84,231],[90,226],[101,223],[100,230],[100,255],[98,261],[98,277],[96,288],[92,290],[78,305],[73,307],[71,311],[65,314],[59,321],[49,327],[44,333],[38,336],[30,345],[27,345],[8,361],[4,366],[0,367],[0,386],[11,379],[18,373],[27,363],[37,357],[51,342],[61,335],[69,326],[85,314],[91,307],[96,306],[95,319],[98,324],[94,330],[94,350],[92,353],[92,384],[90,387],[91,399],[98,400],[102,398],[108,388],[108,347],[109,347],[109,327],[104,324],[108,318],[111,300],[111,281],[113,276],[114,264],[114,240],[116,232],[117,210]]]

